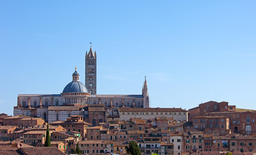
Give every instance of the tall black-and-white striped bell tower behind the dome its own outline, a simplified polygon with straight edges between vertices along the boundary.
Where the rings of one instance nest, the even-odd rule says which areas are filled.
[[[85,87],[90,94],[97,94],[97,56],[96,51],[92,52],[92,46],[85,55]]]

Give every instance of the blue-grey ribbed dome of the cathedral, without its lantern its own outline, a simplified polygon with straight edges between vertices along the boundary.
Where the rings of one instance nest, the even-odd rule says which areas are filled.
[[[83,83],[80,81],[72,81],[71,83],[68,83],[66,87],[64,88],[62,93],[67,93],[67,92],[86,92],[88,93],[87,88],[84,86]]]

